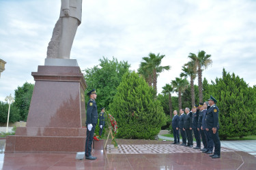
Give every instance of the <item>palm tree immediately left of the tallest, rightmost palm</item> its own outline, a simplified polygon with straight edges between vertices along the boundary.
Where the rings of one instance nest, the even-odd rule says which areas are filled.
[[[190,90],[191,90],[191,105],[192,107],[195,105],[195,88],[194,88],[194,80],[197,77],[197,67],[195,65],[195,61],[190,61],[186,63],[182,67],[182,73],[180,73],[180,77],[187,78],[190,76]]]

